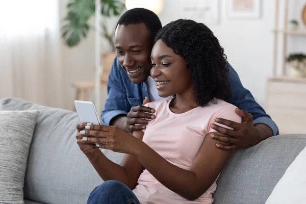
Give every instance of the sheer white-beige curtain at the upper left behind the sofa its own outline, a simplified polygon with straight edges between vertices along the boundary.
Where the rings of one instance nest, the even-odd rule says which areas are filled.
[[[63,107],[58,1],[0,1],[0,98]]]

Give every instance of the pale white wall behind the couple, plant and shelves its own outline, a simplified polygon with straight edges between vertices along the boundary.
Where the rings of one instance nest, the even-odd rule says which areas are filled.
[[[251,91],[261,105],[264,105],[266,79],[272,74],[273,66],[273,34],[271,30],[274,28],[275,0],[262,0],[261,18],[255,20],[229,19],[226,12],[227,0],[219,1],[221,7],[220,23],[207,25],[220,40],[228,61],[238,72],[243,85]],[[66,15],[67,2],[68,0],[60,0],[61,19]],[[163,25],[180,18],[180,1],[164,0],[164,2],[164,9],[159,15]],[[300,20],[302,5],[305,1],[290,0],[290,2],[290,18]],[[293,2],[294,4],[292,4]],[[283,3],[284,0],[281,0],[281,8],[283,8]],[[283,9],[281,9],[280,17],[279,23],[283,26]],[[306,52],[304,37],[290,37],[288,42],[289,52],[302,50]],[[281,44],[278,47],[279,56],[282,56]],[[62,58],[65,79],[63,87],[66,96],[65,108],[72,109],[75,90],[71,87],[71,83],[94,80],[94,34],[90,33],[88,38],[82,40],[77,47],[68,48],[63,44]],[[281,60],[279,59],[279,62]],[[106,91],[103,90],[101,95],[101,103],[104,103]]]

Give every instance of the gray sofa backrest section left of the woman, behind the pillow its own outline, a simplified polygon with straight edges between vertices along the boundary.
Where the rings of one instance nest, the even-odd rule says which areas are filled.
[[[17,98],[0,100],[0,110],[39,110],[24,181],[24,198],[41,203],[86,203],[103,181],[80,150],[76,112],[35,105]],[[123,154],[103,150],[120,163]]]

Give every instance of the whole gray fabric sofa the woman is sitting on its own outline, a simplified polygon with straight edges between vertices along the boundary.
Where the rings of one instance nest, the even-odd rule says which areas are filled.
[[[24,202],[86,203],[91,190],[103,181],[76,143],[77,113],[17,98],[0,100],[0,110],[35,109],[40,114],[25,173]],[[305,146],[306,135],[292,134],[275,136],[251,148],[233,151],[217,181],[214,203],[265,203]],[[104,154],[116,163],[120,163],[123,156],[107,150]]]

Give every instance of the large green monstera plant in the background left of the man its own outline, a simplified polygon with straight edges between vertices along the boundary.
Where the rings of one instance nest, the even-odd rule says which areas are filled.
[[[111,17],[119,17],[125,10],[123,1],[120,0],[100,0],[101,15],[101,37],[105,38],[109,44],[110,52],[103,53],[104,67],[110,69],[116,56],[114,49],[114,29],[109,31],[106,20]],[[62,27],[62,38],[69,47],[78,45],[82,39],[86,38],[90,31],[94,31],[94,26],[89,24],[89,20],[95,14],[95,0],[70,0],[67,4],[67,16],[64,18]],[[106,50],[106,48],[104,48]]]

